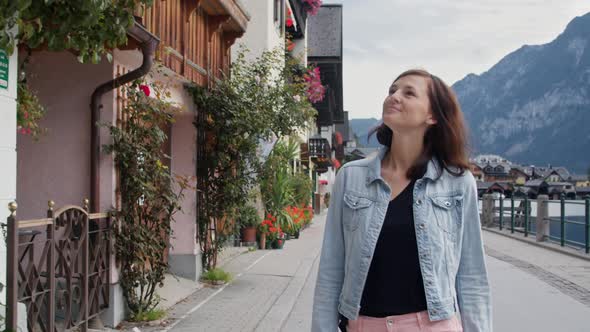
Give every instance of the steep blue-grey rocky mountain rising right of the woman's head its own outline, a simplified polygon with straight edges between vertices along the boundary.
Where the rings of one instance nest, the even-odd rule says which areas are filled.
[[[474,152],[577,173],[590,166],[590,13],[550,43],[522,46],[453,88]]]

